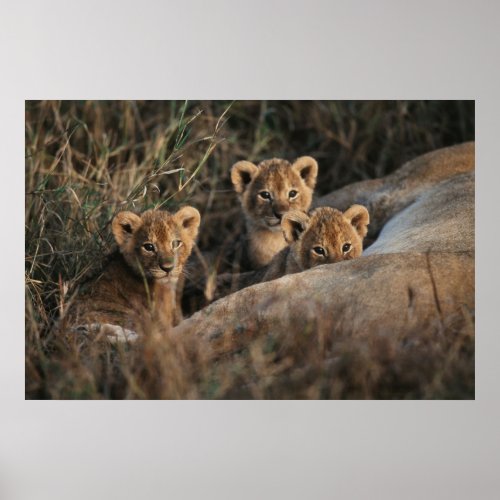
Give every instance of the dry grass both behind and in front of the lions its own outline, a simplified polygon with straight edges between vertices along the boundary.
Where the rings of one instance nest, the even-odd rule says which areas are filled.
[[[214,250],[238,226],[227,174],[239,159],[312,155],[324,194],[473,138],[473,102],[27,102],[26,397],[473,397],[470,313],[439,342],[415,332],[360,349],[318,324],[216,361],[154,329],[133,349],[50,331],[111,249],[119,210],[193,204],[199,246]]]

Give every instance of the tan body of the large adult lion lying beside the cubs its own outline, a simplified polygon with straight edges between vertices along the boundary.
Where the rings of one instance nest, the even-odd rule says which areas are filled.
[[[367,206],[371,235],[377,237],[362,257],[241,290],[186,319],[175,332],[199,336],[215,356],[269,335],[301,349],[319,343],[328,351],[322,363],[330,367],[339,359],[335,346],[348,345],[349,359],[358,365],[373,362],[377,373],[381,366],[392,367],[391,380],[420,366],[428,372],[427,388],[447,376],[443,364],[467,356],[465,369],[462,363],[453,376],[472,381],[453,384],[468,388],[465,396],[457,389],[457,397],[473,396],[474,144],[426,154],[385,178],[324,196],[316,206],[343,210],[353,203]],[[342,376],[339,370],[328,373]],[[395,394],[389,389],[388,397]],[[327,392],[336,395],[353,394]]]

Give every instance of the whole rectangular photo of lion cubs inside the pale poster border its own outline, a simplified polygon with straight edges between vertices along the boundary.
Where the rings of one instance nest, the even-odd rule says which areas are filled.
[[[26,399],[474,399],[474,101],[26,101]]]

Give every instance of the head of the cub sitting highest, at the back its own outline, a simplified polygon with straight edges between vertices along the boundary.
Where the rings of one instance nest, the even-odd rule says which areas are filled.
[[[309,209],[317,175],[318,164],[310,156],[294,163],[278,158],[259,165],[239,161],[231,169],[231,181],[247,221],[277,232],[281,231],[281,219],[289,210]]]

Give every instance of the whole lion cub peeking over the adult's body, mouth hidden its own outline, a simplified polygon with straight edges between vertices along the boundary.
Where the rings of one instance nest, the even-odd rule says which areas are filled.
[[[359,257],[369,223],[368,210],[361,205],[353,205],[345,212],[330,207],[316,208],[309,214],[291,210],[281,220],[283,237],[289,246],[262,269],[238,276],[219,276],[217,298],[285,274]]]

